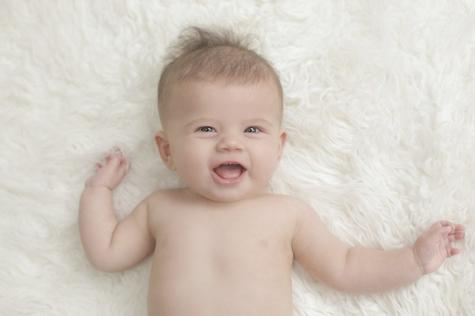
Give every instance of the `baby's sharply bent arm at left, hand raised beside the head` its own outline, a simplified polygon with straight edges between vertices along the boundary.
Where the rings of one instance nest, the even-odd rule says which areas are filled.
[[[107,164],[96,167],[79,203],[79,232],[89,262],[98,270],[117,272],[142,261],[155,240],[148,228],[146,200],[120,222],[114,213],[112,191],[129,169],[121,153],[109,154]]]

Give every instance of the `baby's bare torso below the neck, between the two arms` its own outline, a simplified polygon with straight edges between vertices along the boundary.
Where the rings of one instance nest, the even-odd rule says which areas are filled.
[[[152,225],[156,249],[149,308],[152,301],[172,308],[185,297],[195,297],[198,310],[218,308],[235,297],[236,311],[244,306],[268,310],[276,301],[282,304],[276,308],[287,311],[293,260],[289,217],[262,209],[195,211],[177,209]]]

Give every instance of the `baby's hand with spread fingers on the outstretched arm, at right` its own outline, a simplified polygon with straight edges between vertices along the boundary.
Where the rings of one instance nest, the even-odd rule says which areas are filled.
[[[444,260],[460,251],[449,244],[465,235],[465,227],[449,221],[439,221],[432,225],[428,232],[417,238],[412,251],[423,274],[437,270]]]

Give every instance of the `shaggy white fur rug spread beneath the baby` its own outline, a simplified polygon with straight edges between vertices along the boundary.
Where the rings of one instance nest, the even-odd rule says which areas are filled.
[[[132,163],[121,218],[179,185],[153,142],[156,85],[196,23],[256,34],[280,72],[289,135],[272,190],[352,245],[410,246],[439,219],[467,228],[460,255],[388,293],[341,294],[295,266],[294,315],[474,315],[474,1],[1,2],[0,315],[146,314],[150,259],[91,268],[78,201],[114,146]]]

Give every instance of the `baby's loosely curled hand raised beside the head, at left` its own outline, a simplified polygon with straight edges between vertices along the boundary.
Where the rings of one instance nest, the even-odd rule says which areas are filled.
[[[106,187],[114,190],[130,169],[130,164],[122,155],[120,149],[116,149],[106,157],[106,165],[95,164],[96,173],[86,181],[86,187]]]

